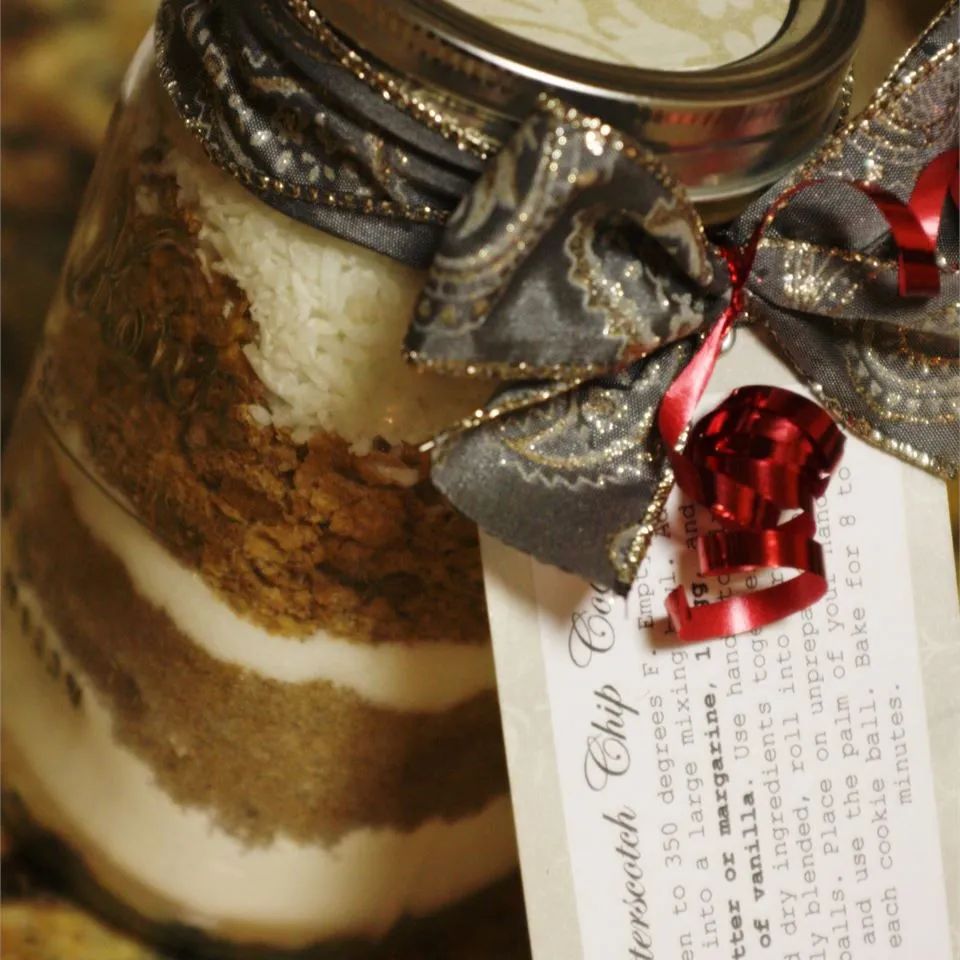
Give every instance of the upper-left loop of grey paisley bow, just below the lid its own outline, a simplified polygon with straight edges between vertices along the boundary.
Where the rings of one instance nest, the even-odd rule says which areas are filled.
[[[434,368],[583,376],[726,306],[727,268],[638,144],[553,100],[457,209],[407,338]]]

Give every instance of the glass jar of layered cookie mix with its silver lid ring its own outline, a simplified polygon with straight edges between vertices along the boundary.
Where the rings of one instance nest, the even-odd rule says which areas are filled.
[[[161,27],[205,6],[168,3]],[[717,215],[835,120],[862,13],[801,3],[786,47],[691,82],[446,4],[247,6],[283,8],[354,81],[375,58],[387,126],[462,152],[454,185],[549,85]],[[213,162],[207,121],[148,38],[7,451],[7,787],[82,891],[161,939],[400,957],[455,930],[478,957],[522,954],[476,531],[418,451],[489,384],[407,367],[421,266],[288,215],[282,182]],[[349,212],[384,215],[368,200]]]

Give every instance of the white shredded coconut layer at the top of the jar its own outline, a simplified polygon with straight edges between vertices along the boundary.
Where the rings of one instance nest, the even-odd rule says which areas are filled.
[[[250,300],[246,348],[272,394],[271,418],[296,439],[336,433],[357,453],[381,437],[419,443],[481,404],[489,383],[418,373],[403,360],[421,271],[273,210],[213,166],[170,117],[168,164],[203,226],[211,268]]]

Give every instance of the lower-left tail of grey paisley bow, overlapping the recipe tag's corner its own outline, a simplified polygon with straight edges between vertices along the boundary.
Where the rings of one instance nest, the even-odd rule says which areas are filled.
[[[506,542],[597,583],[629,584],[673,482],[657,407],[692,353],[681,340],[546,401],[539,385],[503,389],[488,423],[440,438],[434,485]]]

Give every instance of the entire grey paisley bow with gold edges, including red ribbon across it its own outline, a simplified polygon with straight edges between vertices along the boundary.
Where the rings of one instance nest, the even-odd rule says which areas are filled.
[[[448,222],[408,333],[422,368],[505,381],[434,441],[435,485],[498,538],[627,589],[722,339],[748,319],[849,430],[954,475],[956,37],[954,5],[710,236],[648,151],[544,99]]]

